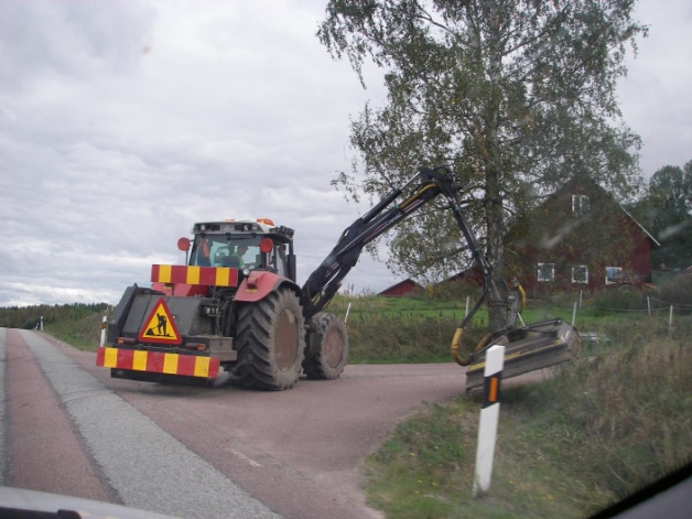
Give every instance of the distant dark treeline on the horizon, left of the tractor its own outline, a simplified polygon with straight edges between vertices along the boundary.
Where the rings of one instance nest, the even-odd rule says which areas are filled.
[[[39,304],[35,306],[0,307],[0,327],[33,329],[43,317],[43,326],[55,322],[82,321],[94,314],[104,314],[110,310],[107,303],[72,303],[72,304]]]

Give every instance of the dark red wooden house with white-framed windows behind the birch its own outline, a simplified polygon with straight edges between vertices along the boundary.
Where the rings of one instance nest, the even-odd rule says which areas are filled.
[[[597,291],[650,282],[658,246],[603,187],[575,176],[512,228],[506,258],[530,295]]]

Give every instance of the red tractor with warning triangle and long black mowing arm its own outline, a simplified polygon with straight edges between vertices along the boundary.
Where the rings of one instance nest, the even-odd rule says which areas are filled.
[[[403,196],[407,190],[410,194]],[[288,389],[301,372],[337,378],[347,361],[348,336],[344,323],[323,309],[367,244],[439,195],[447,201],[484,277],[483,294],[455,335],[454,359],[471,364],[473,375],[483,367],[485,349],[497,343],[509,345],[508,358],[513,353],[512,359],[533,359],[527,367],[516,361],[517,372],[506,360],[505,377],[566,360],[579,334],[560,321],[515,327],[519,289],[493,281],[451,175],[423,169],[345,229],[303,286],[296,283],[293,229],[268,219],[195,224],[193,239],[179,240],[186,264],[154,264],[151,288],[126,290],[108,322],[108,344],[98,348],[97,365],[111,368],[112,377],[147,381],[209,380],[225,369],[237,385],[264,390]],[[491,304],[506,310],[507,326],[462,358],[461,334],[488,294]]]

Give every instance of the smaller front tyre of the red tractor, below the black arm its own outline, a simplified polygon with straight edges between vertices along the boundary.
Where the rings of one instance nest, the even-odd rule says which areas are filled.
[[[335,315],[320,312],[309,323],[303,371],[307,378],[334,380],[348,360],[348,333]]]

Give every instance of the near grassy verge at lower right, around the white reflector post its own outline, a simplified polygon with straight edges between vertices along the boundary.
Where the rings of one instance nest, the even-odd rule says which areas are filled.
[[[552,378],[505,382],[487,498],[471,498],[478,403],[459,397],[399,424],[366,459],[369,502],[387,517],[585,517],[691,459],[692,322],[673,340],[656,317],[639,321]]]

